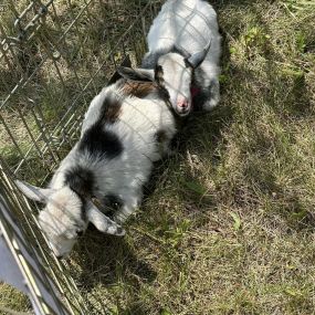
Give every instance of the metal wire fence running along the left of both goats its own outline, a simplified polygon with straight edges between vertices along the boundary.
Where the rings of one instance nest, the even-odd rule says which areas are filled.
[[[45,286],[53,283],[62,296],[61,309],[71,314],[94,311],[87,311],[88,302],[77,291],[67,265],[43,245],[35,206],[14,191],[12,180],[46,181],[78,138],[83,114],[116,66],[127,56],[133,64],[140,62],[148,28],[161,2],[0,2],[1,193],[11,214],[23,222],[23,243],[45,269],[46,279],[41,281]],[[4,221],[1,217],[10,243],[14,235],[10,222]],[[43,312],[54,314],[52,309]]]

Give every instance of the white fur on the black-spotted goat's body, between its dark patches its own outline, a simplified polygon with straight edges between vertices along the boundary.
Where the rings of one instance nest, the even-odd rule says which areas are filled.
[[[104,88],[92,101],[85,115],[83,132],[95,122],[108,92],[116,93],[116,85]],[[106,129],[119,135],[125,149],[115,159],[93,161],[93,168],[97,169],[99,195],[104,193],[105,189],[124,200],[122,211],[116,214],[117,220],[124,221],[125,217],[130,214],[141,201],[143,185],[148,180],[153,162],[166,154],[157,149],[155,134],[162,129],[171,139],[176,133],[175,120],[166,103],[157,95],[144,99],[129,96],[124,99],[119,122],[108,125]],[[70,162],[72,164],[71,160]],[[84,162],[90,165],[88,156],[85,157]]]

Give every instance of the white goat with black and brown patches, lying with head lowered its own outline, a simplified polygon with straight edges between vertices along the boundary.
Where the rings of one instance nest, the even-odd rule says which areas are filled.
[[[102,232],[125,234],[118,223],[138,207],[153,162],[168,151],[175,133],[175,118],[156,84],[119,80],[94,97],[81,139],[49,188],[17,180],[28,198],[45,203],[39,222],[56,256],[72,250],[88,222]],[[119,209],[111,220],[101,210],[113,204]]]

